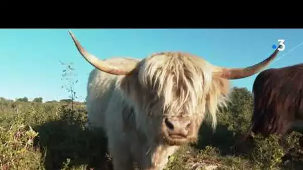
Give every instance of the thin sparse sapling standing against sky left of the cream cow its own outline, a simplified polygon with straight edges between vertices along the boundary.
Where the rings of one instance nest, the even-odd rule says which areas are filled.
[[[73,63],[64,63],[60,61],[61,65],[65,66],[66,68],[62,71],[62,77],[61,80],[64,81],[64,85],[61,87],[64,88],[68,96],[71,99],[72,103],[72,110],[74,110],[74,101],[76,98],[76,91],[75,91],[75,85],[78,83],[78,76],[76,74],[75,68],[73,66]]]

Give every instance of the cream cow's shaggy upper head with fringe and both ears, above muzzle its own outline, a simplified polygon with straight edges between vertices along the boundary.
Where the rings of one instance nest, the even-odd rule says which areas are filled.
[[[218,105],[226,105],[229,91],[228,80],[212,76],[211,64],[180,52],[153,54],[140,61],[136,74],[120,78],[129,82],[123,83],[123,89],[128,91],[125,97],[134,99],[128,102],[139,115],[162,115],[163,108],[166,114],[201,119],[208,113],[214,129]]]

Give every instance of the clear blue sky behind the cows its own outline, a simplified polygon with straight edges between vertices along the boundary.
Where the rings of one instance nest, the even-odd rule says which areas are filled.
[[[69,29],[0,29],[0,96],[15,99],[41,96],[44,101],[67,98],[61,88],[64,67],[73,62],[79,99],[93,69],[78,53]],[[285,39],[286,49],[268,68],[303,62],[303,29],[70,29],[81,44],[100,59],[144,58],[159,51],[186,51],[225,67],[250,66],[267,58]],[[255,76],[232,81],[251,90]]]

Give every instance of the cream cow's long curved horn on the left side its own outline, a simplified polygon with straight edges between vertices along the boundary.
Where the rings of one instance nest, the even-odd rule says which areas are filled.
[[[132,70],[134,70],[134,68],[138,64],[138,61],[133,60],[134,62],[128,62],[125,65],[120,63],[120,65],[117,64],[118,66],[114,66],[112,62],[109,63],[106,61],[101,61],[94,55],[88,53],[81,46],[80,42],[76,39],[75,35],[71,31],[68,31],[68,32],[69,32],[70,36],[72,37],[78,51],[84,57],[84,59],[86,61],[88,61],[91,65],[93,65],[95,68],[97,68],[103,72],[113,74],[113,75],[128,75],[131,73]],[[129,61],[131,61],[131,60],[129,60]]]

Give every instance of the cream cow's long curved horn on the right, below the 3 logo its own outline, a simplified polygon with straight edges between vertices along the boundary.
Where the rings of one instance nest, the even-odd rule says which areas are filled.
[[[271,56],[269,56],[267,59],[263,60],[262,62],[255,64],[250,67],[245,68],[223,68],[214,66],[213,75],[234,80],[234,79],[243,79],[249,76],[252,76],[256,73],[258,73],[260,70],[264,69],[266,66],[268,66],[278,55],[279,48],[282,47],[281,45],[273,52]]]

